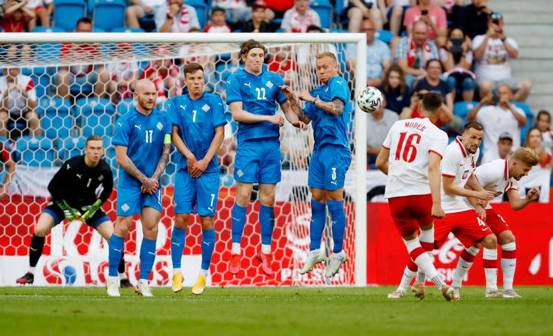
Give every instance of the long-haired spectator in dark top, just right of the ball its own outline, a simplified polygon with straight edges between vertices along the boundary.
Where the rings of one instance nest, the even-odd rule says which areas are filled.
[[[384,94],[386,107],[398,115],[411,103],[411,89],[405,84],[402,68],[393,65],[384,73],[379,90]]]

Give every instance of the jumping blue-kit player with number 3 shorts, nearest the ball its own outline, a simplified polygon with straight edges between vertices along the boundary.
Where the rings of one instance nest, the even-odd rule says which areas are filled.
[[[299,106],[297,95],[289,86],[283,87],[294,112],[300,120],[312,122],[315,147],[309,163],[308,185],[311,189],[310,252],[300,274],[312,270],[324,261],[321,237],[326,218],[326,207],[332,216],[332,240],[334,248],[325,277],[333,277],[340,265],[348,260],[342,245],[346,229],[344,212],[344,179],[351,162],[351,152],[346,133],[351,111],[348,82],[338,75],[338,62],[332,53],[317,55],[317,77],[322,85],[310,92],[302,91],[299,100],[306,102],[305,110]]]

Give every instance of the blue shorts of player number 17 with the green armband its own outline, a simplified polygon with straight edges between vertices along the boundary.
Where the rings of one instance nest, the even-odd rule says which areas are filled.
[[[161,187],[153,195],[142,194],[140,188],[118,188],[118,216],[133,216],[134,214],[140,214],[144,207],[151,207],[161,212]]]

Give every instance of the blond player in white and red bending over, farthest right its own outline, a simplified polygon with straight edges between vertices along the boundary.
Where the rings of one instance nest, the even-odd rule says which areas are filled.
[[[527,176],[530,169],[537,165],[538,162],[539,158],[532,149],[521,147],[508,160],[498,159],[487,162],[476,168],[474,174],[478,178],[479,185],[482,185],[484,189],[493,192],[496,197],[507,193],[511,207],[514,210],[520,210],[540,196],[540,189],[538,187],[529,189],[525,198],[521,198],[518,194],[518,181],[523,176]],[[469,181],[467,187],[477,189],[478,185]],[[497,241],[502,250],[500,264],[503,272],[503,292],[508,297],[521,297],[513,289],[514,271],[516,268],[516,243],[513,232],[503,217],[495,212],[491,205],[487,203],[482,204],[474,198],[468,198],[467,202],[470,202],[479,213],[485,212],[486,223],[497,236]],[[479,246],[476,245],[471,249],[474,251],[473,253],[469,255],[462,254],[459,258],[456,271],[453,273],[453,287],[460,288],[462,278],[469,271],[474,256],[478,253]],[[465,259],[466,256],[468,256],[468,259]]]

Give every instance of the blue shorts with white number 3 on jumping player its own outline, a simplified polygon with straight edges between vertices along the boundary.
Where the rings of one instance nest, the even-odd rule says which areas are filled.
[[[330,191],[344,187],[350,163],[349,149],[336,144],[325,144],[313,151],[309,162],[308,185],[312,188]]]

